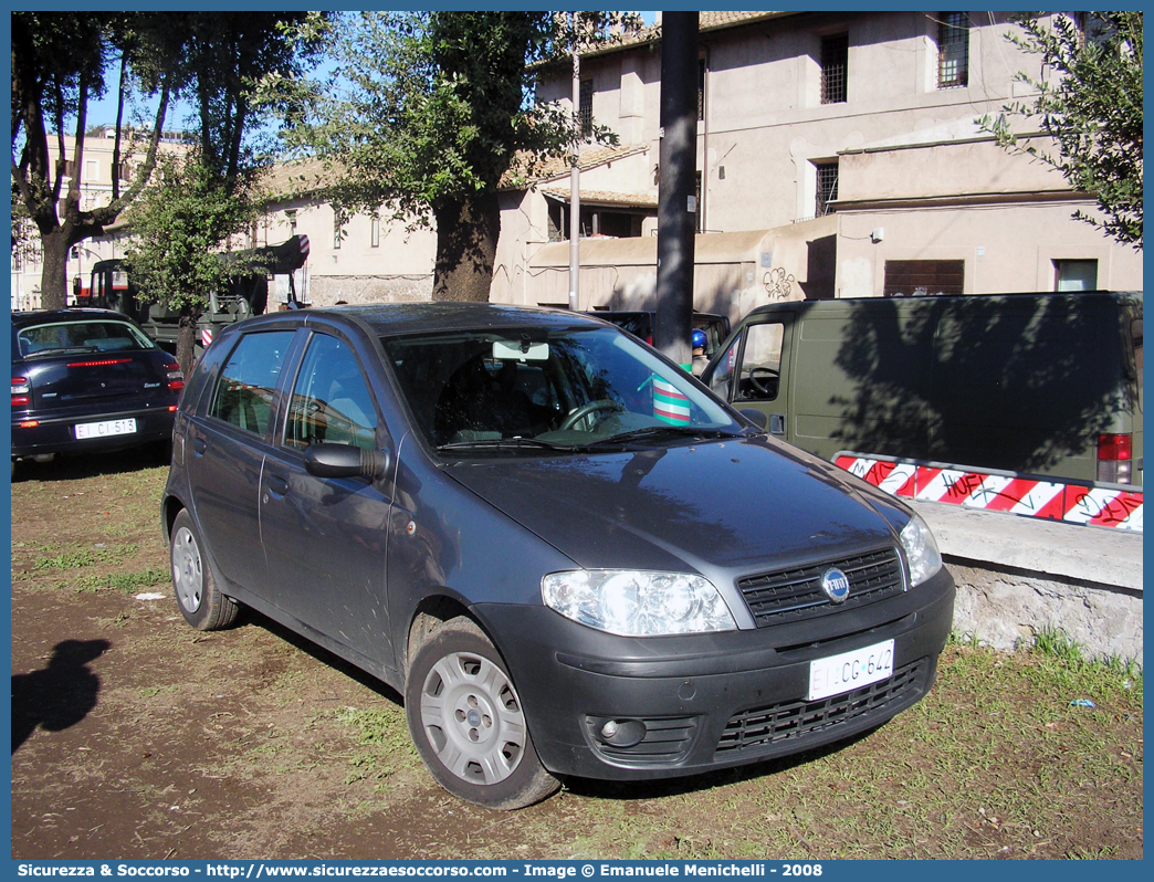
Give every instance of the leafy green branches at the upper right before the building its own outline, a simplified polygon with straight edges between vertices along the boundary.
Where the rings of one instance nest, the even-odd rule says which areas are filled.
[[[1101,217],[1078,212],[1121,242],[1142,247],[1142,14],[1084,13],[1079,28],[1065,15],[1048,27],[1019,15],[1022,35],[1009,39],[1041,57],[1043,79],[1018,74],[1037,90],[1028,102],[1003,106],[979,125],[1003,147],[1057,169],[1078,190],[1097,200]],[[1007,117],[1040,126],[1054,139],[1047,152],[1011,130]]]

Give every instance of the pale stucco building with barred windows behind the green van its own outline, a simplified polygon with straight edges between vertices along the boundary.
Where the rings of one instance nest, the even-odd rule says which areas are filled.
[[[1041,74],[1016,31],[1007,13],[702,13],[695,306],[737,317],[775,299],[1141,289],[1141,253],[1072,219],[1093,201],[976,124],[1028,97],[1017,73]],[[583,169],[583,207],[655,215],[660,70],[653,30],[582,57],[578,112],[621,144]],[[571,89],[560,67],[539,98],[571,106]],[[504,194],[494,300],[567,301],[555,203],[567,172]],[[655,247],[601,230],[582,241],[582,307],[636,308]]]

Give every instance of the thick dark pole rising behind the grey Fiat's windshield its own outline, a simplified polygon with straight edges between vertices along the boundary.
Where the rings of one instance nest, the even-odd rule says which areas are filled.
[[[661,15],[661,148],[653,345],[689,371],[697,226],[697,13]]]

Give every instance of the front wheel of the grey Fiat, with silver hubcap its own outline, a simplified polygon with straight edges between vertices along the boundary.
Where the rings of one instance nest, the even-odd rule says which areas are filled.
[[[417,649],[405,715],[433,777],[469,802],[524,808],[561,786],[537,756],[504,662],[470,619],[445,622]]]

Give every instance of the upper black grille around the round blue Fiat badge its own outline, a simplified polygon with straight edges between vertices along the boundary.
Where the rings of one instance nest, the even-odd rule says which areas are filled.
[[[822,576],[837,567],[849,578],[849,596],[834,604],[822,590]],[[839,610],[883,600],[905,590],[901,558],[896,548],[881,548],[844,560],[749,576],[737,582],[758,628],[814,619]]]

